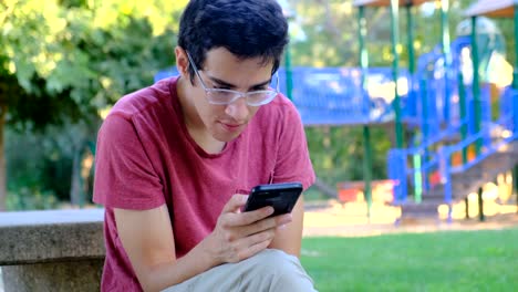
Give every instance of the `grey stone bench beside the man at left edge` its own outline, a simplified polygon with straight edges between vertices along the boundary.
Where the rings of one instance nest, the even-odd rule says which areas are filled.
[[[4,291],[100,291],[103,209],[0,212]]]

